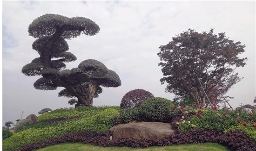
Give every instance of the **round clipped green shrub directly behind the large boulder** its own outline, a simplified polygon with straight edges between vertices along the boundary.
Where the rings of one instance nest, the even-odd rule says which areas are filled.
[[[149,98],[139,107],[142,120],[169,122],[172,118],[174,104],[164,98]]]

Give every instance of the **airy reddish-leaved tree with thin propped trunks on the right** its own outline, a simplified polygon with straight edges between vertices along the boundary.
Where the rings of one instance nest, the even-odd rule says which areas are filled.
[[[222,99],[217,88],[225,94],[242,79],[234,69],[246,64],[247,58],[238,57],[244,47],[241,42],[234,43],[226,38],[224,32],[213,34],[213,29],[208,33],[184,31],[159,47],[157,55],[162,61],[159,66],[164,76],[160,81],[168,84],[167,92],[177,96],[189,94],[197,107],[209,105],[207,96],[212,103],[220,103]]]

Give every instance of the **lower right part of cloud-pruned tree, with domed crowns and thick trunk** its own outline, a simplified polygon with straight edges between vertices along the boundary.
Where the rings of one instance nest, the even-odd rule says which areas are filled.
[[[66,87],[61,90],[59,96],[68,98],[76,97],[78,100],[71,99],[69,104],[77,102],[78,106],[92,106],[93,98],[97,98],[102,92],[102,87],[119,87],[121,86],[120,77],[108,69],[103,63],[88,59],[78,65],[77,70],[88,76],[88,81],[76,85],[76,87]],[[76,88],[76,89],[75,89]]]

